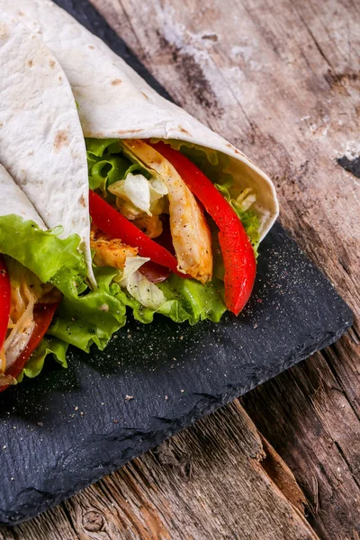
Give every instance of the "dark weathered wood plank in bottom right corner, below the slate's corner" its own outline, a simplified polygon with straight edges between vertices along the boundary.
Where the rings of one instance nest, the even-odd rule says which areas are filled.
[[[325,357],[264,384],[244,403],[296,473],[320,536],[352,538],[360,530],[359,419]]]

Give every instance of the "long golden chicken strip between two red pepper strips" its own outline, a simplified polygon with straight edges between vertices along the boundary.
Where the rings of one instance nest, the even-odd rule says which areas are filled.
[[[203,211],[184,180],[165,157],[140,139],[122,140],[145,166],[156,171],[168,189],[170,230],[177,267],[202,284],[212,277],[211,232]]]

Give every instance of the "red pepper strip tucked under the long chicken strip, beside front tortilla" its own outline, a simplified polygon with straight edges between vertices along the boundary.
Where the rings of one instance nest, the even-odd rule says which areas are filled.
[[[124,218],[118,211],[104,201],[100,195],[90,190],[90,215],[94,224],[112,238],[120,238],[131,247],[138,247],[141,257],[148,257],[157,265],[169,268],[181,277],[177,270],[177,261],[165,247],[159,246],[151,238],[138,229],[131,221]]]

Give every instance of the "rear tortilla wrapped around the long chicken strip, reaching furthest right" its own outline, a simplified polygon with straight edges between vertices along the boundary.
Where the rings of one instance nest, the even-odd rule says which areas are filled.
[[[58,58],[78,103],[85,137],[182,140],[228,156],[225,172],[239,188],[250,186],[257,193],[254,210],[261,218],[260,238],[265,237],[278,215],[275,187],[238,148],[158,95],[102,40],[50,0],[0,0],[0,7],[37,33]]]

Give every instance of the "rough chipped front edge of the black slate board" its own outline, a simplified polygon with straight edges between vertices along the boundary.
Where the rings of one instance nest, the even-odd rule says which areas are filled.
[[[319,339],[319,337],[314,338],[311,345],[309,347],[306,347],[302,351],[301,356],[298,356],[296,351],[292,352],[292,354],[287,356],[284,361],[279,364],[277,373],[274,372],[271,379],[274,378],[276,375],[283,373],[284,370],[292,367],[293,365],[302,362],[302,360],[308,358],[316,351],[319,351],[325,347],[329,347],[330,345],[338,341],[338,339],[341,338],[341,336],[347,331],[347,329],[352,326],[353,314],[349,308],[347,314],[348,318],[347,321],[344,322],[344,327],[342,329],[336,332],[327,332],[327,334],[323,336],[321,340]],[[0,509],[0,524],[6,526],[19,525],[28,519],[34,518],[35,516],[39,515],[44,511],[58,506],[61,501],[69,499],[78,491],[84,490],[87,486],[99,481],[101,478],[103,478],[104,475],[112,473],[113,471],[119,469],[121,466],[128,463],[131,459],[134,459],[135,457],[138,457],[139,455],[148,452],[148,450],[159,445],[167,438],[172,437],[184,428],[192,426],[197,420],[201,419],[204,416],[207,416],[208,414],[211,414],[211,412],[214,412],[215,410],[220,409],[220,407],[223,407],[230,401],[234,401],[239,396],[253,390],[258,384],[266,383],[266,381],[268,380],[270,379],[259,379],[257,382],[253,382],[247,387],[242,388],[238,388],[234,385],[228,384],[221,389],[221,392],[217,397],[202,394],[199,400],[196,401],[193,409],[190,410],[183,417],[171,421],[163,419],[164,423],[166,423],[166,425],[168,424],[166,429],[149,429],[148,431],[133,430],[132,432],[131,430],[129,430],[129,438],[132,442],[135,438],[134,433],[137,433],[138,438],[140,438],[139,444],[141,445],[141,450],[137,450],[136,447],[134,448],[133,446],[119,448],[118,455],[121,455],[121,459],[118,459],[114,455],[111,463],[107,462],[105,464],[94,464],[94,469],[96,469],[96,473],[94,473],[90,477],[87,477],[85,481],[76,482],[75,484],[72,483],[72,485],[68,488],[67,491],[58,491],[58,494],[55,498],[53,494],[29,488],[27,491],[29,494],[29,500],[31,500],[31,502],[23,506],[23,512],[20,513],[19,507],[17,507],[14,512],[10,510],[4,512]],[[151,435],[151,437],[149,437],[149,435]],[[144,443],[144,439],[142,437],[146,437],[146,443]],[[124,440],[125,439],[123,438],[119,438],[119,446]],[[112,432],[111,437],[102,438],[103,446],[109,445],[109,447],[114,448],[115,443],[116,430]],[[86,442],[84,446],[86,446]],[[88,472],[88,469],[86,469],[85,471],[80,470],[78,472],[78,475],[84,478],[85,473]]]

